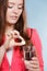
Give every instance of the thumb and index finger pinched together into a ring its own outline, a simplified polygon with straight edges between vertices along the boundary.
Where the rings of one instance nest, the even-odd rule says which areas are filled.
[[[19,36],[14,36],[14,38],[19,38],[19,39],[21,39],[21,42],[15,42],[14,39],[11,39],[9,47],[25,45],[24,38],[21,37],[20,35]]]

